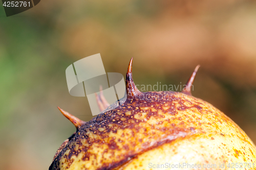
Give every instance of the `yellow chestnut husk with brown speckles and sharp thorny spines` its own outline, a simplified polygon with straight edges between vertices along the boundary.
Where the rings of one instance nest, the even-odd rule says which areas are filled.
[[[191,96],[199,66],[182,92],[140,92],[132,60],[122,105],[114,108],[119,105],[114,103],[89,122],[60,109],[77,131],[61,145],[50,170],[159,169],[161,164],[160,169],[172,169],[183,163],[192,165],[183,169],[231,169],[231,163],[255,169],[256,148],[245,132],[220,110]],[[108,106],[101,94],[96,98],[101,110]]]

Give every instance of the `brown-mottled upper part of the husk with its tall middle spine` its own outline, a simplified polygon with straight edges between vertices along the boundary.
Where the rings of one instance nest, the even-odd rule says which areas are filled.
[[[63,168],[68,168],[74,161],[72,157],[80,154],[79,161],[91,163],[94,169],[115,169],[166,142],[203,133],[198,128],[202,124],[208,129],[218,129],[218,124],[210,118],[208,122],[198,123],[203,116],[212,114],[220,122],[230,121],[224,115],[215,115],[219,110],[211,105],[184,93],[140,92],[133,82],[132,60],[126,74],[126,94],[122,105],[117,101],[108,111],[78,127],[49,169],[60,169],[60,160],[65,160],[68,166]]]

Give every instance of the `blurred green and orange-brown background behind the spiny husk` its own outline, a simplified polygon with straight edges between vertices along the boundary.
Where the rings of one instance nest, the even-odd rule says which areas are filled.
[[[2,4],[0,4],[2,6]],[[256,3],[239,0],[44,0],[6,17],[0,7],[0,169],[48,169],[82,120],[87,98],[69,94],[65,70],[100,53],[106,72],[136,84],[184,84],[256,143]]]

